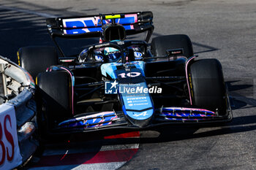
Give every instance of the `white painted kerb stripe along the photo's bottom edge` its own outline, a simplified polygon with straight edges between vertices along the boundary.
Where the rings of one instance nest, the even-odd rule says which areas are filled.
[[[29,170],[56,170],[56,169],[61,169],[61,170],[68,170],[68,169],[73,169],[73,170],[94,170],[94,169],[118,169],[121,166],[124,165],[126,161],[124,162],[111,162],[111,163],[91,163],[91,164],[80,164],[80,165],[67,165],[67,166],[43,166],[43,167],[34,167]]]

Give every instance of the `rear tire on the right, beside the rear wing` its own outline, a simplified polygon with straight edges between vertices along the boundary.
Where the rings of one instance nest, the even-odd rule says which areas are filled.
[[[166,50],[182,48],[184,55],[189,58],[193,54],[192,42],[189,36],[178,34],[178,35],[167,35],[157,36],[152,39],[151,51],[154,56],[166,55]]]

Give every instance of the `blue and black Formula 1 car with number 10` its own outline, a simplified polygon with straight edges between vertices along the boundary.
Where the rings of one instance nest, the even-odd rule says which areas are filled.
[[[187,35],[157,36],[148,44],[152,20],[152,12],[47,19],[61,56],[54,47],[18,51],[20,66],[36,79],[39,127],[66,134],[230,121],[221,63],[196,60]],[[144,40],[127,39],[143,32]],[[98,37],[99,43],[66,56],[57,37]]]

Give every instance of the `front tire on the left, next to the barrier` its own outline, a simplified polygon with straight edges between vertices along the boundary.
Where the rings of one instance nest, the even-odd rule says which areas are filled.
[[[71,77],[65,71],[42,72],[37,76],[37,118],[41,130],[47,134],[61,121],[72,117],[71,84]]]

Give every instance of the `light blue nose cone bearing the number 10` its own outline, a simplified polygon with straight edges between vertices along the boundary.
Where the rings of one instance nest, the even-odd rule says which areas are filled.
[[[151,96],[148,92],[144,92],[142,89],[148,88],[145,81],[145,63],[143,61],[132,61],[128,63],[128,68],[134,69],[120,69],[121,74],[117,73],[118,67],[124,66],[123,63],[103,63],[101,66],[102,75],[109,76],[113,80],[118,82],[118,95],[121,98],[123,105],[122,109],[124,115],[132,118],[133,120],[148,120],[154,114],[154,104]],[[130,74],[140,77],[139,82],[133,82]],[[127,75],[129,75],[127,77]],[[121,81],[118,81],[121,80]],[[122,81],[124,80],[124,81]],[[134,88],[136,93],[131,93],[126,88]]]

